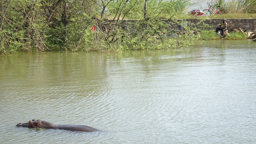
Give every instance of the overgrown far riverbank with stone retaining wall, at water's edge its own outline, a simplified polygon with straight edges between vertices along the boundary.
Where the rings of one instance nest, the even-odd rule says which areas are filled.
[[[123,20],[118,24],[115,20],[101,20],[94,18],[94,28],[87,28],[84,33],[66,37],[53,38],[52,35],[40,36],[45,49],[38,49],[38,45],[26,42],[14,43],[14,48],[1,48],[2,54],[17,51],[40,52],[48,51],[122,51],[122,50],[159,50],[180,48],[196,44],[197,40],[221,40],[215,33],[217,25],[222,19],[187,19],[187,20]],[[256,38],[256,19],[226,19],[228,32],[226,40],[244,40]],[[237,29],[236,29],[237,28]],[[54,42],[56,43],[50,43]],[[73,41],[70,43],[70,41]],[[22,42],[22,41],[19,41]]]

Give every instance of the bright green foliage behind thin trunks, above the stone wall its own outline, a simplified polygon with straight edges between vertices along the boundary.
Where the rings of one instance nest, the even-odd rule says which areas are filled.
[[[124,7],[124,14],[129,19],[142,19],[144,14],[144,0],[130,0]],[[116,14],[120,11],[124,1],[111,1],[108,5],[108,12],[106,15],[116,18]],[[176,14],[183,14],[187,6],[190,6],[190,0],[150,0],[148,1],[148,17],[157,18],[164,17],[170,18]],[[112,18],[112,17],[110,17]]]

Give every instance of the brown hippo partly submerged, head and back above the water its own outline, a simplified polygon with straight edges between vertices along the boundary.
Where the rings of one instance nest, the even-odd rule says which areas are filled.
[[[96,128],[84,125],[75,124],[53,124],[51,122],[46,122],[44,120],[30,120],[28,123],[19,123],[18,127],[28,127],[28,128],[46,128],[46,129],[60,129],[60,130],[72,130],[81,132],[96,132],[101,131]]]

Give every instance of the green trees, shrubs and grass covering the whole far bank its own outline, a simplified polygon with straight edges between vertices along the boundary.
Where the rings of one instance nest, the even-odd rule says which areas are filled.
[[[243,16],[246,12],[255,12],[255,0],[232,2],[216,0],[213,3],[231,8],[236,2],[235,9]],[[184,14],[190,5],[189,0],[2,0],[0,54],[32,49],[158,50],[187,46],[198,37],[218,39],[211,31],[202,31],[200,36],[190,34],[192,30],[198,31],[197,28],[208,27],[203,20],[197,28],[182,20],[195,18]],[[255,16],[250,14],[250,17]],[[124,23],[127,18],[139,20]],[[195,19],[202,18],[205,17]],[[180,26],[186,30],[185,34],[180,34]],[[92,31],[92,27],[96,30]],[[243,38],[238,34],[230,36]]]

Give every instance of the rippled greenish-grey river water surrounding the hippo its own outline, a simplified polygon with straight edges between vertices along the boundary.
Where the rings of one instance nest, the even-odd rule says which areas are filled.
[[[256,43],[0,56],[1,144],[255,144]],[[17,128],[41,119],[104,132]]]

